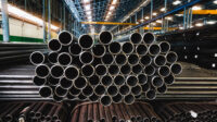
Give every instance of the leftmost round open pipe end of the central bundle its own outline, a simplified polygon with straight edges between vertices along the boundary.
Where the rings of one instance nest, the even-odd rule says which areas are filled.
[[[29,57],[30,59],[30,62],[34,64],[34,65],[38,65],[38,64],[41,64],[44,62],[46,60],[46,57],[42,52],[40,51],[35,51],[30,54]]]

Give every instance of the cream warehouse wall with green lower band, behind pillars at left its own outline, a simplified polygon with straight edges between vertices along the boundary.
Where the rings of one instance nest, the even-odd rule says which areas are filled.
[[[24,42],[42,42],[43,30],[42,27],[26,23],[13,17],[9,19],[10,24],[10,41],[24,41]],[[52,32],[52,37],[56,34]],[[2,40],[2,26],[0,29],[0,41]]]

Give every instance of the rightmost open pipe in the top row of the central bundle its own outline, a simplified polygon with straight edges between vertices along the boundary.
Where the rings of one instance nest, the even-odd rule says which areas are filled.
[[[155,35],[153,33],[149,32],[149,33],[144,33],[143,34],[142,39],[143,39],[144,44],[151,45],[151,44],[153,44],[156,40],[156,37],[155,37]]]

